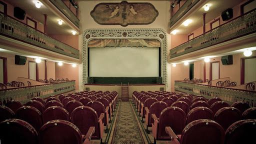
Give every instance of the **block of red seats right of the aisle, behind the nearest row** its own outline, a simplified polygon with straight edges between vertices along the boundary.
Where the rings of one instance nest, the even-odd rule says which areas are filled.
[[[223,130],[240,119],[256,119],[256,107],[249,108],[242,101],[230,106],[218,97],[206,99],[200,95],[157,91],[134,91],[132,97],[142,120],[145,116],[148,133],[148,127],[152,126],[155,140],[169,138],[164,130],[165,126],[170,126],[175,133],[181,134],[186,124],[197,119],[215,120]]]

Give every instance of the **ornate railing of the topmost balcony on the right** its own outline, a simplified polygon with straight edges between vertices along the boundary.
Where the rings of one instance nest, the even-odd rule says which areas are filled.
[[[189,9],[191,9],[199,0],[186,0],[186,2],[170,18],[170,26],[176,23]]]

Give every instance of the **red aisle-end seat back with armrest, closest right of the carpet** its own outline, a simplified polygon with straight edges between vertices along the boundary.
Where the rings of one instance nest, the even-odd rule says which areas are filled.
[[[158,137],[169,138],[164,130],[165,126],[170,126],[175,134],[181,134],[185,124],[186,114],[181,108],[176,106],[167,107],[162,110],[159,116]]]

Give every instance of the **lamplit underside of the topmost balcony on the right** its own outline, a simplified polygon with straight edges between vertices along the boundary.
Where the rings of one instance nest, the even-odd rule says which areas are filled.
[[[184,26],[180,24],[175,29],[179,30],[177,34],[189,34],[195,29],[202,26],[203,21],[203,13],[206,13],[205,22],[209,22],[213,18],[221,15],[221,12],[227,8],[232,8],[235,5],[239,4],[244,0],[205,0],[204,4],[211,4],[210,9],[208,11],[204,11],[203,7],[199,7],[194,11],[191,11],[191,16],[187,19],[191,19],[192,22],[188,26]],[[202,5],[204,5],[202,4]],[[171,28],[171,31],[173,29]]]

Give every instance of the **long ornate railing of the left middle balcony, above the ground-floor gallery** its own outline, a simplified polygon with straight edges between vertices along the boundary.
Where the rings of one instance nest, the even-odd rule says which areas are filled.
[[[10,16],[0,13],[0,34],[43,49],[79,58],[79,50],[62,43]]]

